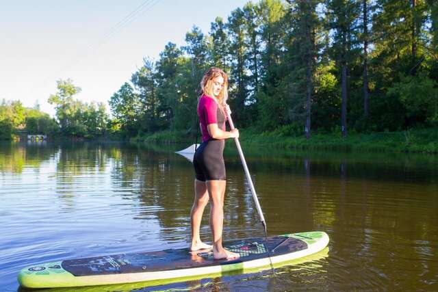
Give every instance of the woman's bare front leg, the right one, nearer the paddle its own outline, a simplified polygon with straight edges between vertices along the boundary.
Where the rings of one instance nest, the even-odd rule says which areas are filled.
[[[207,181],[207,191],[210,198],[210,226],[213,234],[213,257],[237,258],[239,254],[222,247],[222,228],[224,223],[224,196],[227,181]]]

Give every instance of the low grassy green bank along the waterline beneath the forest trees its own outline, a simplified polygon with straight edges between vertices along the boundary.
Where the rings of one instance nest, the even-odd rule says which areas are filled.
[[[201,138],[198,138],[198,142]],[[183,132],[162,131],[136,137],[134,142],[146,143],[194,143],[194,137]],[[304,136],[294,136],[284,129],[259,133],[256,129],[241,129],[242,144],[270,146],[296,150],[332,150],[354,152],[423,152],[438,154],[438,129],[411,129],[400,132],[312,133],[307,140]]]

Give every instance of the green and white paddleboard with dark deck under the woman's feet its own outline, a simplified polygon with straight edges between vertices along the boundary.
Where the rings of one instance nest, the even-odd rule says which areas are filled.
[[[208,251],[193,252],[187,248],[116,254],[79,258],[34,265],[22,269],[18,282],[23,287],[79,287],[129,282],[169,280],[200,275],[245,272],[257,267],[269,267],[323,250],[329,243],[326,233],[315,231],[263,238],[243,239],[224,243],[240,254],[235,260],[214,260]]]

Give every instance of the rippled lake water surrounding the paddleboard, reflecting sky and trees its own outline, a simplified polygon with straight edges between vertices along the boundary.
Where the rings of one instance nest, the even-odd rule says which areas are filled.
[[[194,174],[174,152],[186,146],[0,144],[0,291],[20,290],[27,265],[187,247]],[[268,234],[322,230],[329,248],[276,277],[268,269],[104,291],[438,290],[437,156],[244,151]],[[224,239],[261,237],[232,143],[225,157]]]

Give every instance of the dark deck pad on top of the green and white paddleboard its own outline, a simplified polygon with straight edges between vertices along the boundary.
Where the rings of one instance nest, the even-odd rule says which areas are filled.
[[[269,237],[233,241],[225,248],[240,254],[235,260],[215,260],[213,252],[192,252],[188,248],[170,249],[159,252],[140,252],[115,254],[92,258],[79,258],[62,261],[62,268],[74,276],[90,276],[103,274],[124,274],[144,271],[164,271],[168,269],[186,269],[209,265],[229,265],[266,257],[267,250],[274,250],[271,256],[296,252],[307,248],[307,243],[292,237]]]

